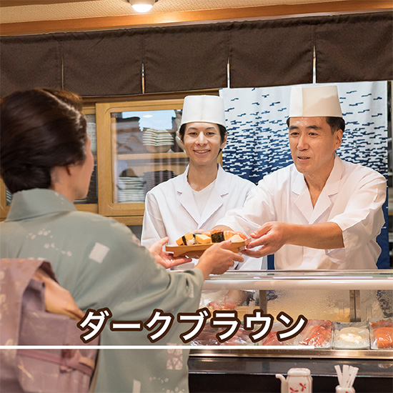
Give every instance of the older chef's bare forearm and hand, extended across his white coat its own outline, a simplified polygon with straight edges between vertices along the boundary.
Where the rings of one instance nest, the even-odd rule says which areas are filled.
[[[313,249],[339,249],[344,247],[342,229],[335,222],[319,224],[289,224],[267,222],[251,234],[254,239],[244,250],[251,257],[274,254],[284,244],[310,247]],[[255,247],[259,247],[255,249]]]

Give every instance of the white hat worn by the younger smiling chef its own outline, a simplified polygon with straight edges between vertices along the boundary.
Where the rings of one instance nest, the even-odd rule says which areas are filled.
[[[180,126],[193,122],[225,126],[224,100],[219,96],[186,96]]]

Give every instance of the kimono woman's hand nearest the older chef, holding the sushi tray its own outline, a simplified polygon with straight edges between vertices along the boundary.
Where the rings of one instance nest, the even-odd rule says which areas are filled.
[[[234,265],[234,262],[244,262],[242,255],[228,249],[231,244],[230,240],[215,243],[199,258],[196,267],[202,270],[205,279],[209,274],[223,274],[227,272],[229,267]]]

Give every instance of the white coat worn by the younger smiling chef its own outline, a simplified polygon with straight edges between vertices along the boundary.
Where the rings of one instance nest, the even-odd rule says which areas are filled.
[[[193,229],[212,229],[217,220],[224,217],[229,209],[242,207],[250,191],[256,187],[252,181],[230,174],[219,165],[217,178],[207,204],[199,213],[193,190],[187,181],[189,166],[183,174],[164,181],[146,194],[141,244],[150,247],[163,237],[169,237],[169,244],[176,244],[179,237]],[[189,269],[191,264],[182,264],[177,269]],[[244,262],[235,266],[242,270],[267,269],[264,258],[245,257]]]

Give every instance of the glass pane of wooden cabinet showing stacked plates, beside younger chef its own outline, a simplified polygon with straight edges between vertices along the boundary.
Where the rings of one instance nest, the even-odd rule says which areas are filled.
[[[181,109],[111,113],[114,203],[144,203],[147,191],[184,171],[180,120]]]

